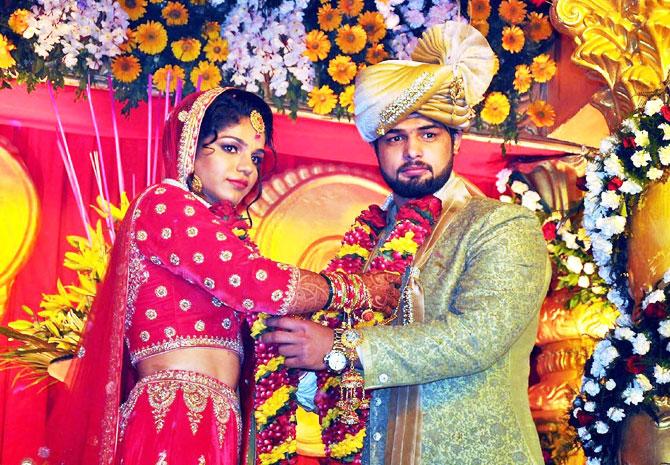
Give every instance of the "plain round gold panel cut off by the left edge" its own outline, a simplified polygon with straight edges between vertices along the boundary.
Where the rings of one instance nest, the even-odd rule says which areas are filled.
[[[0,138],[0,318],[14,277],[32,252],[39,219],[33,182],[8,147]]]

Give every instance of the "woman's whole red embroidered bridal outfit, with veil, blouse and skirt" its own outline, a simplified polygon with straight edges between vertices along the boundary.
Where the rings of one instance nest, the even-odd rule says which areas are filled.
[[[49,463],[239,463],[235,386],[181,370],[135,382],[132,368],[186,347],[241,358],[244,312],[283,314],[295,292],[298,269],[258,255],[232,205],[207,205],[186,187],[205,110],[223,91],[189,96],[166,123],[167,179],[138,196],[118,231],[68,398],[50,416]]]

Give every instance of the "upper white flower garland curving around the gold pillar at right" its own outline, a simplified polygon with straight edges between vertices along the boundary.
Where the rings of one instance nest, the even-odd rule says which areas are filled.
[[[624,120],[615,135],[603,140],[600,155],[587,166],[584,226],[600,276],[611,287],[607,297],[622,313],[633,308],[625,277],[629,212],[648,185],[668,176],[669,166],[667,93],[649,99]]]

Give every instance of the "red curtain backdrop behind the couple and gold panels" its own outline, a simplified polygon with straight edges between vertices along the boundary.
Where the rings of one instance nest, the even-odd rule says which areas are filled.
[[[89,152],[97,150],[97,143],[88,102],[76,99],[73,88],[58,90],[56,100],[84,204],[94,204],[98,192]],[[95,90],[92,101],[102,135],[110,197],[118,202],[109,93]],[[164,99],[154,100],[154,124],[162,120],[164,105]],[[139,192],[146,183],[147,105],[133,110],[129,117],[122,116],[119,108],[117,103],[124,179],[131,197],[133,179],[135,192]],[[75,274],[62,266],[64,254],[69,250],[65,237],[72,234],[83,236],[85,233],[57,148],[55,113],[45,87],[39,87],[30,94],[19,86],[0,91],[0,136],[18,150],[41,203],[35,247],[14,282],[9,307],[2,321],[6,324],[8,320],[25,316],[20,310],[21,305],[37,309],[42,293],[56,291],[58,278],[64,283],[74,280]],[[277,115],[275,145],[278,152],[277,173],[305,164],[333,162],[355,165],[378,176],[374,153],[361,141],[352,124],[306,117],[294,121],[285,115]],[[508,153],[519,152],[512,150]],[[455,170],[477,183],[487,194],[494,195],[495,174],[504,164],[498,145],[464,141]],[[90,220],[95,223],[97,217],[91,215]],[[14,375],[13,371],[0,372],[0,463],[4,465],[19,464],[22,458],[33,455],[44,443],[45,413],[49,397],[54,395],[53,387],[47,388],[45,383],[29,386],[25,381],[14,382]],[[85,401],[82,399],[82,402]]]

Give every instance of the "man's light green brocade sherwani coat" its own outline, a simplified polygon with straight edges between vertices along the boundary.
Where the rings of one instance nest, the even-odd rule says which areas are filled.
[[[389,448],[407,447],[407,433],[404,445],[403,434],[388,434],[388,403],[408,385],[418,386],[419,411],[411,463],[543,463],[527,390],[550,276],[530,211],[481,197],[464,202],[421,269],[423,321],[362,331],[366,389],[374,389],[364,463],[409,465],[385,461]]]

